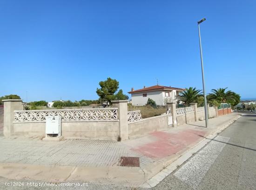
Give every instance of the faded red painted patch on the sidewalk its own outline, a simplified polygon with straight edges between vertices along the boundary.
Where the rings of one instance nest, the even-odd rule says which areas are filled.
[[[164,158],[181,151],[186,146],[196,142],[205,135],[205,132],[188,129],[179,133],[165,133],[157,131],[150,133],[158,140],[133,148],[135,152],[140,152],[150,158]]]

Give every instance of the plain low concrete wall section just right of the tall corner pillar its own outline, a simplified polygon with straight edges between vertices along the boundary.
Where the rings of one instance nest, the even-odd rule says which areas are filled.
[[[129,139],[154,131],[166,130],[172,127],[172,124],[168,125],[170,120],[172,120],[172,115],[167,114],[128,123]]]

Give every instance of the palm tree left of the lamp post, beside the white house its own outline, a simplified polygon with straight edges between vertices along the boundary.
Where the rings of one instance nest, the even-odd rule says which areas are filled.
[[[185,91],[179,93],[176,96],[178,101],[183,101],[186,106],[189,106],[190,103],[196,102],[197,98],[202,96],[202,90],[197,90],[196,88],[189,87],[185,88]]]

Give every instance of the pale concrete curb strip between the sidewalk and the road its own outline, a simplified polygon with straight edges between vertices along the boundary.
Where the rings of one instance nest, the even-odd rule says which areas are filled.
[[[175,171],[180,165],[186,162],[190,157],[192,157],[196,152],[201,150],[204,146],[206,146],[212,139],[214,139],[219,133],[221,133],[224,129],[229,127],[232,123],[238,120],[242,115],[238,115],[236,118],[229,121],[228,124],[219,127],[216,132],[209,134],[207,137],[198,142],[195,146],[183,152],[182,155],[175,159],[171,164],[169,164],[166,168],[163,168],[162,171],[157,173],[154,177],[150,178],[144,184],[141,184],[141,188],[152,188],[159,184],[165,177]],[[168,162],[168,161],[166,161]]]

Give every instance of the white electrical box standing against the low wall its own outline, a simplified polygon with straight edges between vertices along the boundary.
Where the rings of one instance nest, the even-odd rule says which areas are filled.
[[[46,116],[46,135],[57,134],[58,137],[61,136],[61,116]]]

